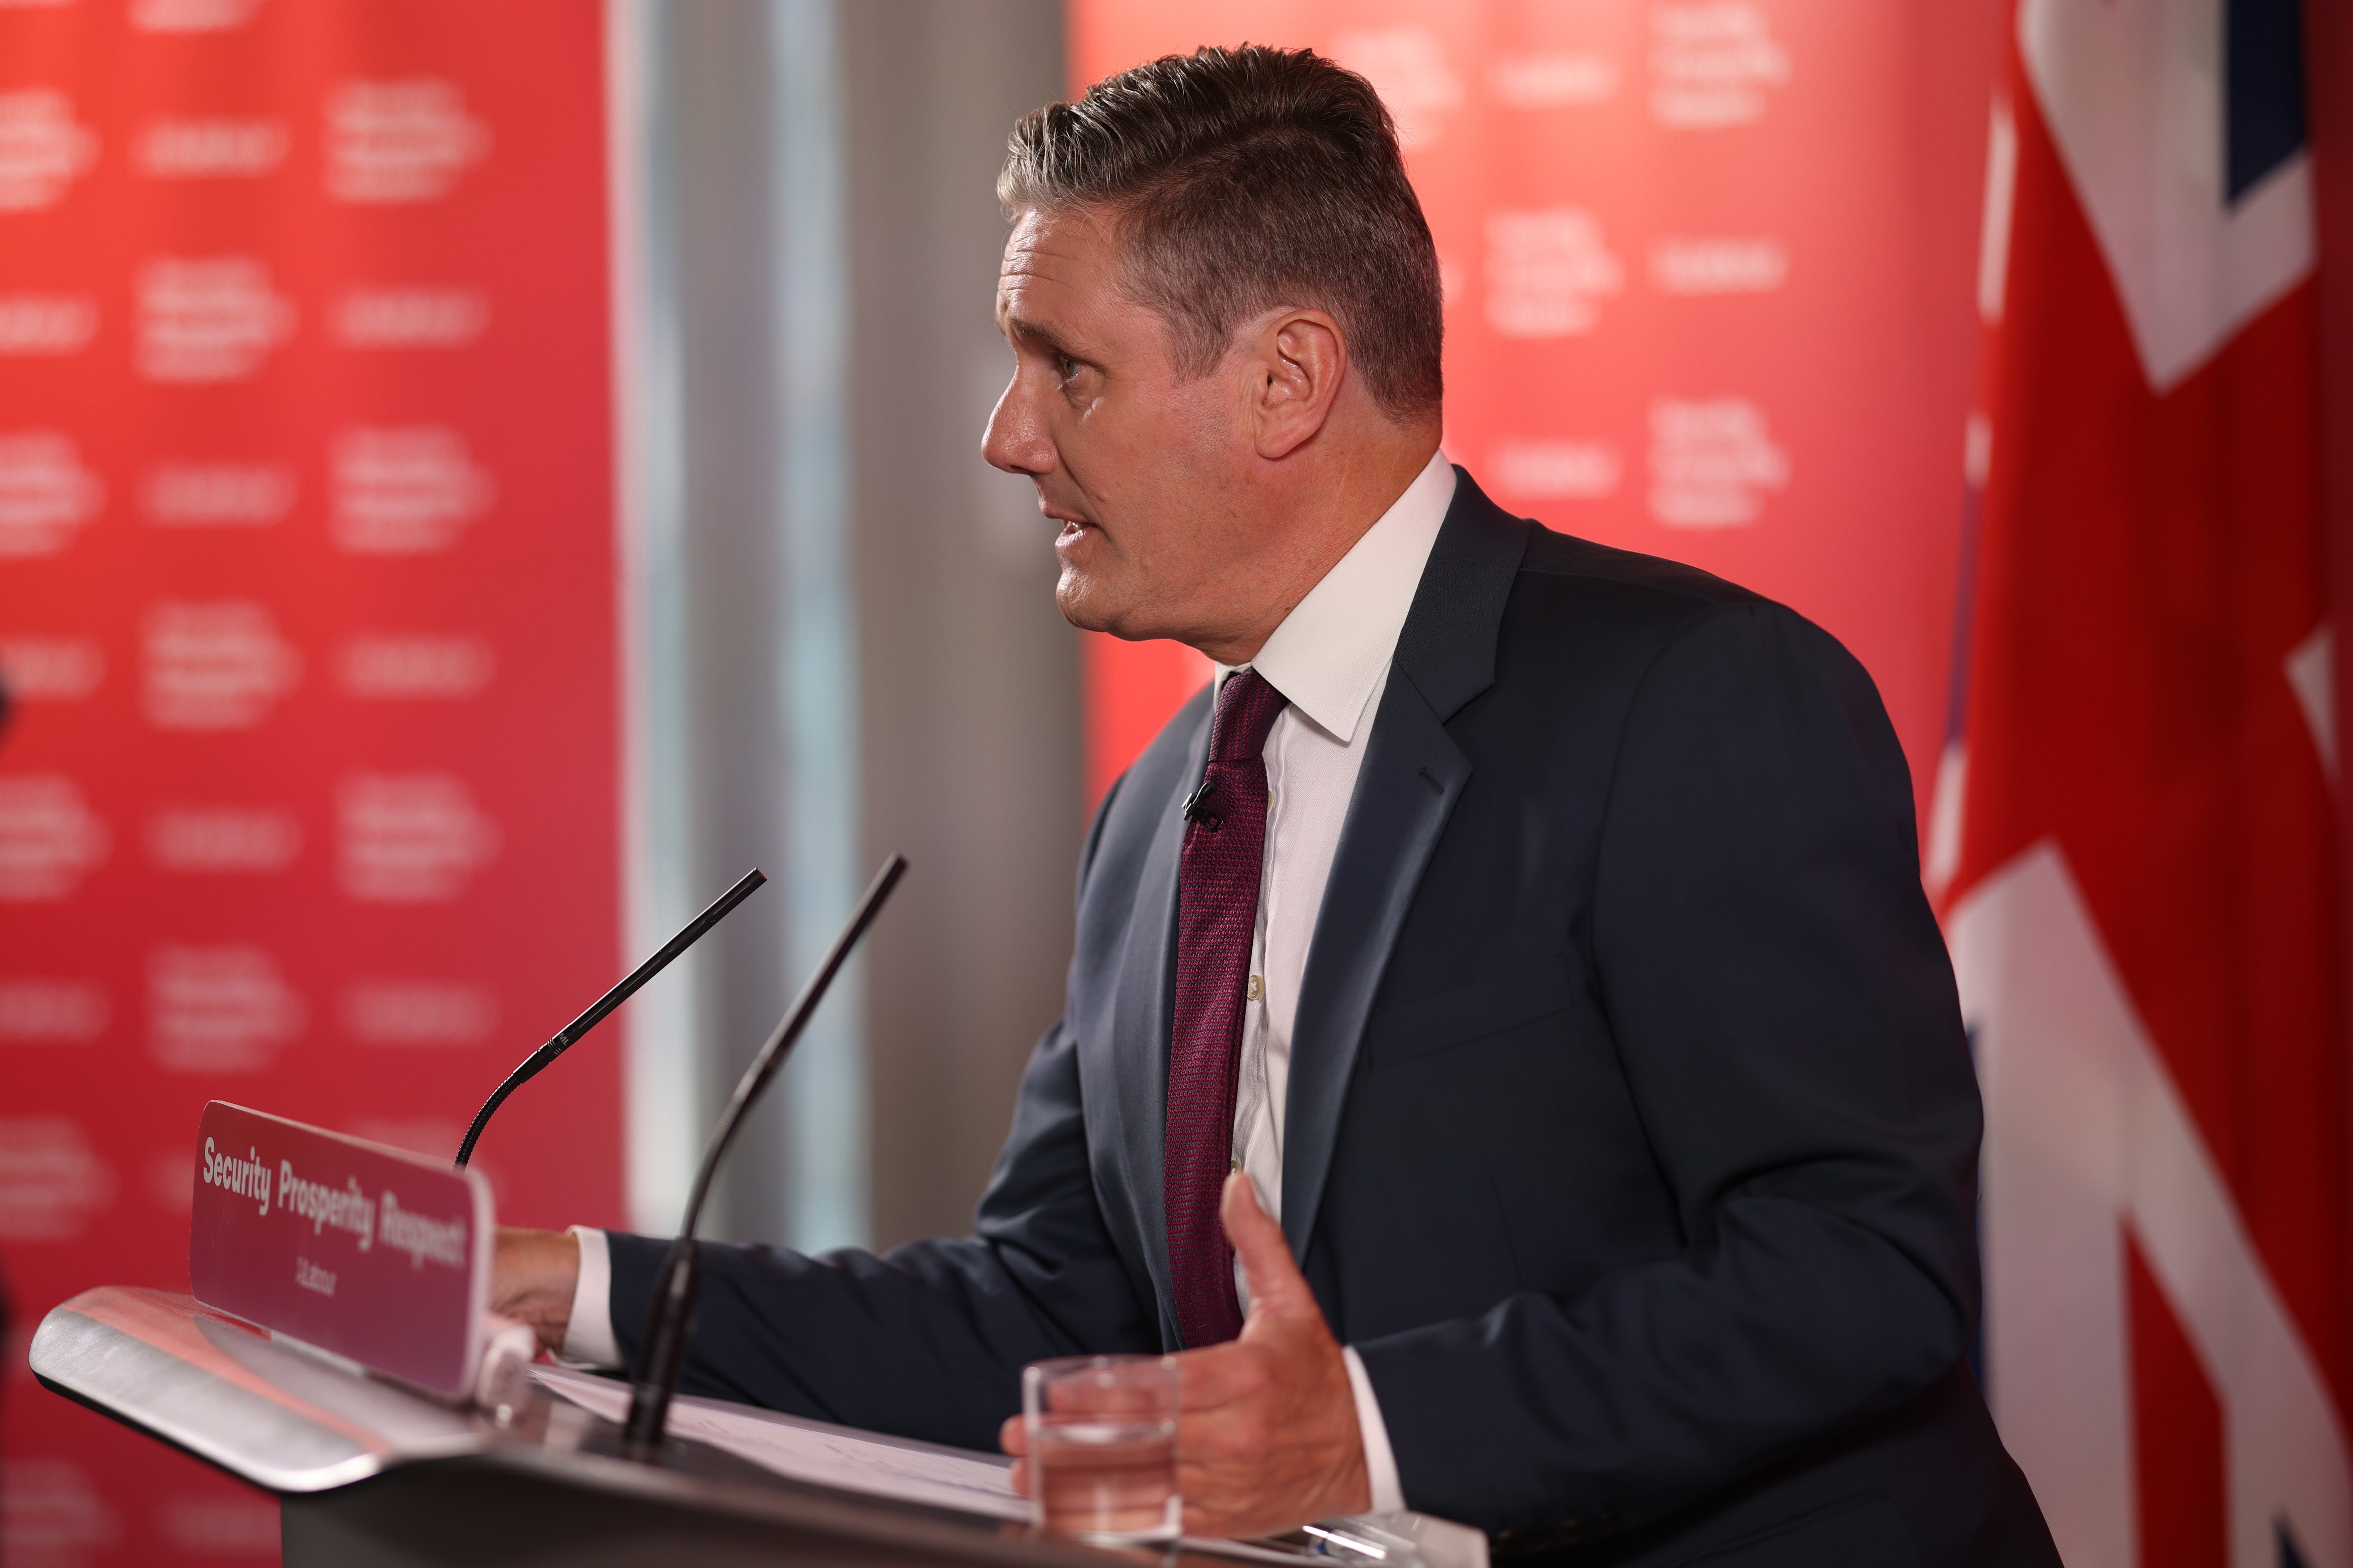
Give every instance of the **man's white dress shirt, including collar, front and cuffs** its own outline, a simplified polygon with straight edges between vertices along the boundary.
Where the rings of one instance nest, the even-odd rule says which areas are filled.
[[[1266,865],[1259,882],[1259,924],[1249,938],[1249,994],[1242,1009],[1242,1070],[1233,1105],[1233,1157],[1249,1173],[1259,1204],[1282,1218],[1282,1121],[1289,1105],[1292,1027],[1299,1020],[1299,980],[1315,938],[1325,882],[1339,830],[1348,820],[1355,776],[1365,764],[1388,661],[1414,604],[1438,527],[1454,503],[1454,468],[1431,458],[1405,494],[1365,529],[1365,536],[1299,599],[1249,665],[1219,665],[1224,684],[1235,668],[1254,668],[1289,705],[1266,733]],[[605,1232],[574,1225],[581,1279],[572,1295],[565,1359],[619,1366],[612,1335],[612,1260]],[[1249,1284],[1235,1269],[1242,1305]],[[1405,1507],[1398,1460],[1388,1446],[1381,1403],[1355,1349],[1348,1387],[1365,1439],[1372,1512]]]

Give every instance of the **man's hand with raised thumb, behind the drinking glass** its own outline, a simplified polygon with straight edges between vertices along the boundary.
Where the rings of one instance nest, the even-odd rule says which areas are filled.
[[[1226,1178],[1226,1237],[1249,1274],[1242,1338],[1176,1356],[1179,1483],[1188,1535],[1273,1535],[1372,1507],[1365,1439],[1339,1340],[1249,1178]],[[1021,1418],[1000,1432],[1026,1453]],[[1028,1462],[1014,1486],[1031,1490]]]

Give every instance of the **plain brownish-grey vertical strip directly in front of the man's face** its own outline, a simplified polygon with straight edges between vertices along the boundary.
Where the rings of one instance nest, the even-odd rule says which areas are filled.
[[[873,1232],[960,1234],[1061,1011],[1080,802],[1075,632],[1026,480],[979,458],[1012,122],[1061,96],[1054,0],[859,0],[847,61],[852,517],[868,858]]]

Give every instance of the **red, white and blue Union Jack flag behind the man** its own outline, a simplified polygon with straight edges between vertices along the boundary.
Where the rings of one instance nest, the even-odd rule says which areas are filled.
[[[2297,0],[2021,0],[1927,875],[1984,1371],[2071,1568],[2353,1563]]]

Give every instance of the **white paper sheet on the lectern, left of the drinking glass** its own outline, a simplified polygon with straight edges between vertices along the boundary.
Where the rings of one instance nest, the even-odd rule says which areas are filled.
[[[628,1418],[628,1385],[555,1366],[534,1366],[532,1373],[551,1394],[560,1394],[605,1420]],[[828,1427],[715,1399],[694,1399],[692,1394],[680,1394],[671,1403],[671,1436],[692,1436],[725,1448],[793,1481],[838,1486],[868,1497],[922,1502],[988,1519],[1028,1519],[1031,1514],[1028,1497],[1012,1488],[1012,1462],[988,1453],[875,1439],[849,1427]]]

